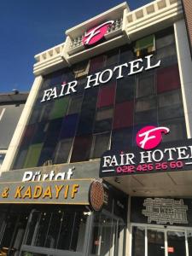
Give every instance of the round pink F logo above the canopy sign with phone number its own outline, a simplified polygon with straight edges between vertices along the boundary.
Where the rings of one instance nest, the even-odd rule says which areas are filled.
[[[137,132],[136,142],[139,148],[152,149],[162,141],[162,132],[168,133],[167,127],[146,126]]]

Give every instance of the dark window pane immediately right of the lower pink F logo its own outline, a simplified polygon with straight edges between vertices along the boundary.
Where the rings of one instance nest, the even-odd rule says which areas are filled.
[[[163,142],[187,139],[186,125],[183,118],[162,121],[160,126],[166,126],[170,129],[170,132],[163,137]]]

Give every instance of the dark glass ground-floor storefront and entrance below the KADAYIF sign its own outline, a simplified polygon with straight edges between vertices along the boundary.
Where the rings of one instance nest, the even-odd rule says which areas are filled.
[[[191,256],[191,211],[192,199],[131,197],[117,189],[99,212],[2,204],[0,255]]]

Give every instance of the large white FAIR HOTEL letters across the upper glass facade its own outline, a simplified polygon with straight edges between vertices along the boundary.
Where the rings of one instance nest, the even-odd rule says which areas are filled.
[[[127,70],[127,76],[131,76],[136,73],[142,73],[143,70],[148,71],[154,67],[160,67],[160,61],[154,65],[152,64],[153,55],[148,55],[144,59],[146,59],[145,65],[143,64],[143,59],[141,58],[135,61],[125,62],[124,64],[113,67],[113,69],[108,68],[102,72],[91,74],[90,76],[87,76],[87,82],[84,89],[90,89],[91,87],[108,83],[112,79],[113,73],[115,73],[116,79],[123,79],[124,75],[122,73],[123,71],[125,72],[125,70]],[[44,96],[41,102],[47,102],[51,99],[67,96],[77,91],[78,81],[73,80],[72,82],[61,84],[60,89],[58,86],[55,86],[51,89],[44,90]]]

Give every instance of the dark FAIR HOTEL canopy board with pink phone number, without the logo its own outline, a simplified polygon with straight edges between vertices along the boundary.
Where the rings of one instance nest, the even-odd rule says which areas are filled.
[[[161,143],[151,150],[107,151],[102,155],[100,177],[187,170],[192,170],[192,139]]]

